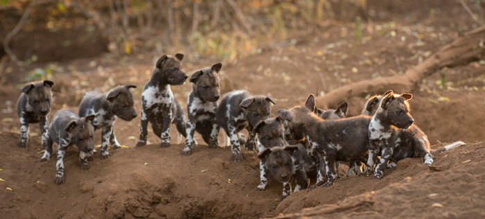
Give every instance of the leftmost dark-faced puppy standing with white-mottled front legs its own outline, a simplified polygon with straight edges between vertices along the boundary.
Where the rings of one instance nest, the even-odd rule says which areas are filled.
[[[46,139],[48,128],[47,114],[51,111],[52,91],[54,82],[44,80],[25,85],[17,100],[17,115],[20,119],[20,141],[17,144],[25,148],[28,143],[28,124],[39,123],[42,143]]]

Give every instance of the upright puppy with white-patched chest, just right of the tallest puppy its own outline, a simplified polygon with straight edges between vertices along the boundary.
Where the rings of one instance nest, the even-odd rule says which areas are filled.
[[[188,120],[186,123],[185,147],[182,155],[191,155],[194,144],[194,132],[202,135],[209,148],[218,148],[219,127],[215,122],[215,112],[220,97],[218,73],[222,64],[214,64],[211,68],[200,69],[192,74],[191,94],[187,98]]]

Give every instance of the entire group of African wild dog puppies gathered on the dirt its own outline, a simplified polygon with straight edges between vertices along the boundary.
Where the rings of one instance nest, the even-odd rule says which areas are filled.
[[[359,175],[364,169],[380,179],[383,170],[396,166],[406,157],[423,157],[424,164],[432,164],[433,155],[443,150],[461,146],[462,142],[442,150],[430,150],[426,135],[413,125],[408,100],[411,94],[394,94],[387,91],[367,101],[362,115],[344,118],[348,111],[346,102],[337,109],[321,110],[315,97],[292,109],[279,109],[270,118],[275,100],[268,96],[253,96],[244,90],[231,91],[220,103],[218,72],[222,64],[195,71],[189,81],[193,89],[188,96],[188,120],[182,106],[175,99],[170,85],[182,85],[188,75],[182,69],[184,55],[162,55],[155,64],[152,77],[141,94],[141,128],[137,147],[147,142],[148,123],[161,139],[161,146],[170,146],[170,123],[174,123],[186,141],[182,155],[191,155],[195,131],[209,148],[218,148],[218,133],[222,128],[227,134],[226,146],[231,145],[233,161],[241,161],[241,146],[259,151],[261,180],[257,189],[265,189],[267,174],[283,182],[283,198],[291,192],[290,182],[296,181],[294,191],[308,188],[309,173],[316,173],[317,182],[312,186],[330,186],[337,178],[340,161],[349,164],[347,175]],[[68,146],[75,144],[80,150],[80,166],[89,169],[93,159],[94,131],[102,129],[100,157],[110,156],[108,143],[120,148],[113,124],[116,116],[131,121],[137,114],[130,89],[135,85],[114,87],[106,94],[91,91],[85,94],[79,114],[67,109],[58,111],[48,127],[47,114],[51,108],[54,83],[49,80],[30,83],[21,89],[17,102],[20,118],[20,142],[26,147],[28,124],[39,123],[42,145],[45,147],[41,161],[51,157],[53,142],[58,143],[55,183],[64,182],[63,158]],[[248,139],[240,134],[246,129]],[[379,158],[378,158],[379,157]]]

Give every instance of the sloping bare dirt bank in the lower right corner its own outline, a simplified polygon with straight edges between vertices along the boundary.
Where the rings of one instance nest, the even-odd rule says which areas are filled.
[[[485,143],[479,142],[436,155],[433,166],[439,171],[421,159],[404,159],[381,180],[340,179],[331,187],[294,193],[276,211],[287,213],[278,218],[483,218],[484,158]]]

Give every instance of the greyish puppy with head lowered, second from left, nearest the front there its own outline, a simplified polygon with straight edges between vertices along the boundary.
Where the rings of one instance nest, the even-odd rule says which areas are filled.
[[[64,156],[67,147],[78,146],[80,167],[83,170],[89,169],[88,160],[92,160],[94,149],[94,128],[91,121],[94,115],[81,117],[67,109],[62,109],[55,114],[51,126],[48,129],[46,141],[44,143],[45,152],[40,161],[51,158],[52,144],[58,143],[58,161],[55,164],[55,184],[64,182]]]

